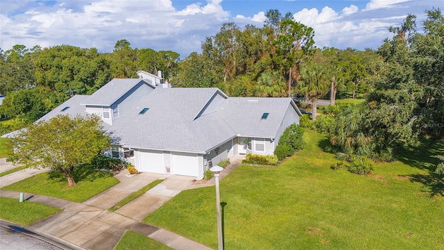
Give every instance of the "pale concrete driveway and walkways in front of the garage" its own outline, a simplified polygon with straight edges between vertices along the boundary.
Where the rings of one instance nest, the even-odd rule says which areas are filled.
[[[242,158],[244,156],[232,158],[232,163],[221,172],[221,178],[235,169],[241,163]],[[31,175],[29,169],[24,170],[28,170],[28,172],[24,174],[22,170],[0,177],[0,183],[20,181],[19,178],[27,178],[26,176]],[[40,172],[35,172],[34,174]],[[65,201],[39,194],[25,194],[25,199],[29,201],[44,203],[63,210],[56,215],[25,226],[25,228],[44,235],[46,238],[58,240],[60,244],[66,245],[67,249],[114,249],[123,233],[127,230],[146,235],[173,249],[211,249],[171,231],[140,221],[182,190],[214,185],[214,179],[203,184],[193,184],[194,178],[169,176],[162,183],[119,208],[116,212],[113,213],[106,210],[129,194],[148,185],[148,183],[155,181],[157,178],[162,178],[162,176],[141,173],[128,177],[126,173],[121,172],[116,175],[121,183],[83,203]],[[9,179],[12,181],[9,181]],[[19,192],[0,190],[0,197],[18,199]]]

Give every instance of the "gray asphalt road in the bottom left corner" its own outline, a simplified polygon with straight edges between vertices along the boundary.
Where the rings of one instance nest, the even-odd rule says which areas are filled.
[[[19,229],[19,228],[17,228]],[[31,232],[30,232],[31,233]],[[8,250],[60,250],[53,244],[26,235],[14,228],[0,226],[0,249]]]

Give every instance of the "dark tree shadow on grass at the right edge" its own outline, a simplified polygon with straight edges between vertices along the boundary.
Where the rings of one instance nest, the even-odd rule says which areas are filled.
[[[411,182],[418,182],[427,188],[430,197],[444,196],[444,178],[435,174],[439,160],[432,157],[444,154],[444,140],[438,142],[424,141],[414,149],[398,149],[396,157],[402,163],[427,171],[427,174],[409,174]]]

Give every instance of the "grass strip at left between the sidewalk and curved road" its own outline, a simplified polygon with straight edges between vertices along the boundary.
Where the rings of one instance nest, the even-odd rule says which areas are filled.
[[[40,203],[31,201],[19,202],[18,199],[0,197],[0,218],[7,221],[26,226],[40,221],[61,211],[59,208],[53,208]]]

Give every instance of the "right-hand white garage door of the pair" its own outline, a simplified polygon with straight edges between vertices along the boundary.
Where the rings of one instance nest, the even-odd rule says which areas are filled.
[[[173,153],[173,174],[197,177],[198,166],[195,153]]]

